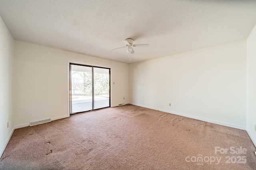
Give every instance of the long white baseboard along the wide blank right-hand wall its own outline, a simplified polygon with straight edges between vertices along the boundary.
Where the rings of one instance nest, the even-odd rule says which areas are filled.
[[[149,107],[149,106],[144,106],[144,105],[134,104],[134,103],[130,103],[130,104],[135,105],[135,106],[140,106],[140,107],[146,107],[148,109],[154,109],[154,110],[158,110],[158,111],[163,111],[163,112],[166,112],[166,113],[172,113],[174,115],[180,115],[180,116],[184,116],[184,117],[188,117],[188,118],[192,118],[192,119],[206,121],[206,122],[214,123],[214,124],[217,124],[217,125],[223,125],[223,126],[233,127],[233,128],[236,128],[236,129],[246,130],[246,127],[239,126],[239,125],[234,125],[234,124],[225,123],[225,122],[221,122],[221,121],[214,121],[214,120],[211,120],[211,119],[206,119],[206,118],[202,118],[202,117],[192,116],[192,115],[188,115],[188,114],[184,114],[184,113],[178,113],[176,111],[169,111],[169,110],[164,110],[164,109],[158,109],[156,107]]]

